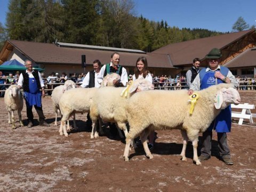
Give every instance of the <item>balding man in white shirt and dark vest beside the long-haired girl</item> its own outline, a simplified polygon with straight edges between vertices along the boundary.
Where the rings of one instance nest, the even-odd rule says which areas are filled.
[[[119,65],[119,61],[120,61],[120,55],[117,52],[114,52],[113,54],[111,54],[111,62],[107,63],[106,65],[104,65],[101,69],[100,69],[100,74],[98,77],[98,82],[101,83],[103,80],[103,77],[105,77],[107,74],[111,74],[111,73],[117,73],[118,75],[121,76],[121,80],[120,82],[117,81],[116,79],[114,79],[113,84],[116,87],[119,86],[126,86],[126,83],[128,82],[128,77],[127,77],[127,72],[126,69]],[[115,124],[109,124],[110,127],[110,133],[113,137],[115,137],[117,135],[117,129]]]

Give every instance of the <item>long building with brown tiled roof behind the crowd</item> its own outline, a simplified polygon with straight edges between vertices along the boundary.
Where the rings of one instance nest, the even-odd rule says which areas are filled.
[[[87,67],[85,69],[87,72],[92,70],[92,62],[95,59],[106,64],[110,62],[110,55],[113,52],[119,52],[120,64],[130,74],[133,74],[137,59],[145,56],[151,73],[175,76],[185,74],[196,57],[202,59],[202,66],[206,66],[204,57],[213,47],[221,50],[222,65],[230,68],[235,75],[247,77],[254,75],[256,67],[255,29],[173,43],[151,53],[60,42],[50,44],[7,40],[0,52],[0,64],[12,59],[17,59],[21,63],[30,59],[38,67],[44,68],[46,75],[52,71],[59,73],[66,71],[67,74],[83,73],[81,55],[86,55]]]

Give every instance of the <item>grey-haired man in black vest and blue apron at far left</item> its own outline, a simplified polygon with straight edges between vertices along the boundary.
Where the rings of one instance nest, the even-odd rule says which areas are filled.
[[[50,126],[45,122],[45,116],[42,109],[42,97],[45,97],[44,82],[41,74],[37,70],[33,70],[32,62],[30,60],[25,61],[26,71],[22,71],[18,81],[19,89],[23,86],[24,98],[26,100],[28,127],[33,126],[34,115],[32,107],[34,105],[36,112],[39,116],[39,125]],[[42,88],[42,93],[39,89]]]

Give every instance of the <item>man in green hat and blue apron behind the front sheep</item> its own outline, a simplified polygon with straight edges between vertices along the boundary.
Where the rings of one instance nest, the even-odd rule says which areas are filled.
[[[193,94],[193,91],[206,89],[209,86],[220,83],[231,83],[236,88],[238,83],[231,71],[220,66],[221,52],[219,49],[212,49],[205,58],[207,59],[208,67],[202,69],[196,76],[194,82],[190,86],[188,94]],[[200,161],[205,161],[211,157],[211,141],[212,130],[217,132],[220,156],[223,162],[227,165],[233,165],[230,157],[230,150],[227,143],[227,132],[231,129],[231,107],[221,110],[220,114],[214,119],[210,127],[203,133],[202,149]]]

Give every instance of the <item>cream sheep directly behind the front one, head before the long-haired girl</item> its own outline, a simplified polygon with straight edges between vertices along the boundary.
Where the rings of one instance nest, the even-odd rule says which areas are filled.
[[[97,91],[97,94],[95,95],[92,106],[90,108],[90,117],[93,122],[91,139],[99,137],[98,132],[95,130],[95,127],[97,127],[98,119],[102,119],[106,122],[116,123],[119,129],[123,130],[125,135],[127,135],[127,116],[125,107],[127,105],[128,99],[120,97],[120,94],[123,90],[124,87],[104,87]],[[148,80],[142,78],[136,79],[131,84],[131,86],[128,87],[128,90],[129,93],[127,93],[127,98],[130,98],[137,91],[154,90],[154,86]],[[101,129],[101,121],[99,122]],[[122,133],[119,129],[118,131],[122,138]]]

